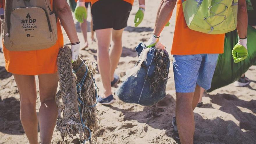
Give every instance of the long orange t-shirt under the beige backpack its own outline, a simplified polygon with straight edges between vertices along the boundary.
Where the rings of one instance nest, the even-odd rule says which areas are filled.
[[[51,1],[51,6],[52,2]],[[3,1],[4,3],[4,1]],[[60,21],[57,21],[58,40],[47,49],[35,51],[8,51],[3,45],[5,66],[8,72],[23,75],[53,74],[57,72],[57,56],[64,40]]]

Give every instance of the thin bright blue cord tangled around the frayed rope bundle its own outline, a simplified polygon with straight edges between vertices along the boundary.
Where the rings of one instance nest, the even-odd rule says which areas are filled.
[[[76,75],[76,72],[82,67],[82,65],[85,65],[85,63],[82,63],[81,65],[80,65],[80,67],[77,69],[77,70],[73,70],[73,73]],[[86,72],[85,72],[85,74],[83,75],[83,78],[81,79],[81,81],[80,81],[80,83],[78,83],[77,84],[77,93],[79,94],[79,95],[81,95],[81,90],[83,90],[83,89],[85,89],[85,88],[83,88],[83,83],[84,83],[84,80],[85,80],[85,78],[86,78],[86,75],[87,75],[87,73],[88,73],[88,67],[87,67],[87,65],[85,65],[86,66]],[[89,70],[90,71],[90,70]],[[91,74],[91,76],[92,76],[92,78],[93,78],[93,74]],[[95,107],[96,106],[96,104],[98,103],[98,99],[97,99],[97,97],[98,97],[98,93],[97,93],[97,85],[96,85],[96,82],[95,82],[95,79],[93,78],[93,82],[94,82],[94,84],[95,84],[95,88],[96,88],[96,103],[94,104],[94,105],[92,105],[92,106],[88,106],[88,107]],[[80,97],[77,97],[78,98],[78,101],[79,101],[79,103],[80,104],[82,104],[83,106],[85,106],[85,104],[82,102],[82,100],[80,99]],[[91,133],[91,130],[85,125],[85,122],[83,122],[83,118],[82,118],[82,114],[81,114],[81,107],[78,105],[78,108],[79,108],[79,115],[80,115],[80,119],[81,119],[81,124],[82,124],[82,127],[83,127],[83,132],[85,132],[84,131],[84,128],[86,128],[88,131],[89,131],[89,134],[90,134],[90,136],[89,136],[89,138],[87,139],[87,140],[83,140],[83,144],[85,144],[86,143],[86,141],[89,141],[90,139],[91,139],[91,136],[92,136],[92,133]]]

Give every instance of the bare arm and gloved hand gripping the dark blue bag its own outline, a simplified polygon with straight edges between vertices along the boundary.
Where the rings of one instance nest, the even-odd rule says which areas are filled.
[[[154,31],[150,40],[147,42],[147,47],[153,47],[158,41],[160,37],[160,33],[162,32],[164,26],[170,20],[173,9],[176,5],[177,0],[162,0],[160,6],[157,11],[157,18],[154,26]]]

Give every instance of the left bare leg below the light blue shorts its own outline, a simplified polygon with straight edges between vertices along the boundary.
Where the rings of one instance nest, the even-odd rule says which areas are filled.
[[[194,93],[177,93],[176,95],[176,120],[180,142],[182,144],[193,144],[195,120],[192,102]]]

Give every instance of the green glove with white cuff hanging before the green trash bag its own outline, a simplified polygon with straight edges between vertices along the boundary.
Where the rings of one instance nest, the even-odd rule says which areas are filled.
[[[234,63],[239,63],[243,61],[248,56],[247,51],[247,39],[239,39],[238,43],[234,46],[232,50],[232,57],[234,59]]]

